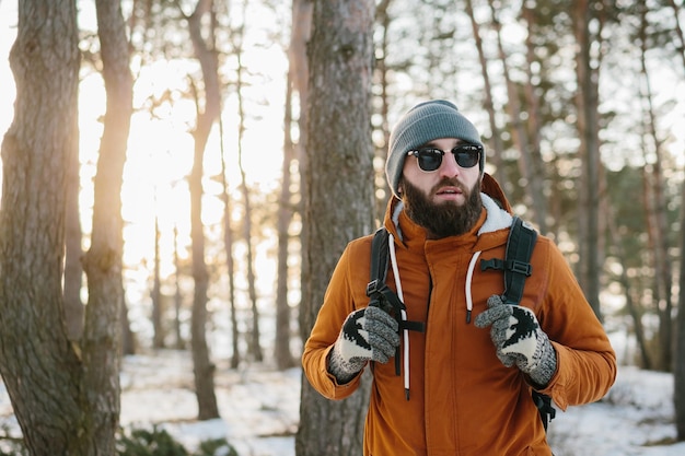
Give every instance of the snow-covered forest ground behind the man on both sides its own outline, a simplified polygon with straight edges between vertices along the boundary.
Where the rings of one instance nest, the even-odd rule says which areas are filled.
[[[294,456],[301,370],[252,365],[240,372],[217,366],[221,419],[198,422],[189,353],[161,351],[127,356],[121,373],[121,424],[165,429],[188,449],[227,437],[241,456]],[[549,439],[556,456],[683,456],[673,444],[673,377],[622,366],[600,402],[557,411]],[[0,429],[18,435],[0,384]],[[5,431],[7,432],[7,431]]]

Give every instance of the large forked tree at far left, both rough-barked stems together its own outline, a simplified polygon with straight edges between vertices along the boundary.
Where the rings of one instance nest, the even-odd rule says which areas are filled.
[[[113,454],[118,426],[118,318],[124,295],[119,195],[132,78],[120,4],[97,1],[96,7],[107,109],[91,249],[84,258],[89,305],[82,363],[67,341],[61,291],[66,177],[73,177],[67,167],[78,140],[76,4],[20,3],[12,51],[16,118],[3,141],[7,177],[0,222],[0,302],[7,306],[0,312],[0,337],[9,340],[0,346],[7,362],[2,375],[32,455]],[[32,191],[16,191],[20,188]]]

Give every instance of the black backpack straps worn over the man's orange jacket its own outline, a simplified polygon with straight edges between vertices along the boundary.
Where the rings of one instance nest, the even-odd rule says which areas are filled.
[[[523,296],[525,279],[532,273],[530,259],[536,241],[537,232],[523,223],[519,217],[514,217],[507,239],[504,259],[480,260],[480,270],[495,269],[504,272],[502,297],[507,304],[515,305]],[[374,233],[371,243],[371,280],[367,285],[367,296],[370,297],[369,305],[379,306],[388,313],[394,311],[399,331],[409,329],[422,332],[425,330],[422,321],[407,321],[402,318],[400,313],[406,311],[406,306],[395,292],[385,284],[388,267],[387,249],[388,233],[385,227],[381,226]],[[399,375],[399,348],[395,352],[395,373]],[[552,406],[552,398],[533,389],[532,399],[537,407],[543,426],[547,431],[547,424],[556,416],[556,409]]]

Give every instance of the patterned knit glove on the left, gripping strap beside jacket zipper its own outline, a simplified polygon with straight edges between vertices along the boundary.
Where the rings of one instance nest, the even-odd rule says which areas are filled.
[[[397,321],[380,307],[352,312],[328,355],[328,372],[339,383],[352,379],[368,361],[386,363],[399,346]]]

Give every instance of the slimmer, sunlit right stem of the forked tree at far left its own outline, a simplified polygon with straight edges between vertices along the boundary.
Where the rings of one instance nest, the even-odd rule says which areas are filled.
[[[88,407],[92,413],[93,449],[108,455],[115,452],[120,410],[121,184],[132,114],[133,79],[120,2],[96,0],[95,5],[107,108],[94,183],[91,247],[83,265],[89,300],[82,349],[86,366],[82,407]]]

